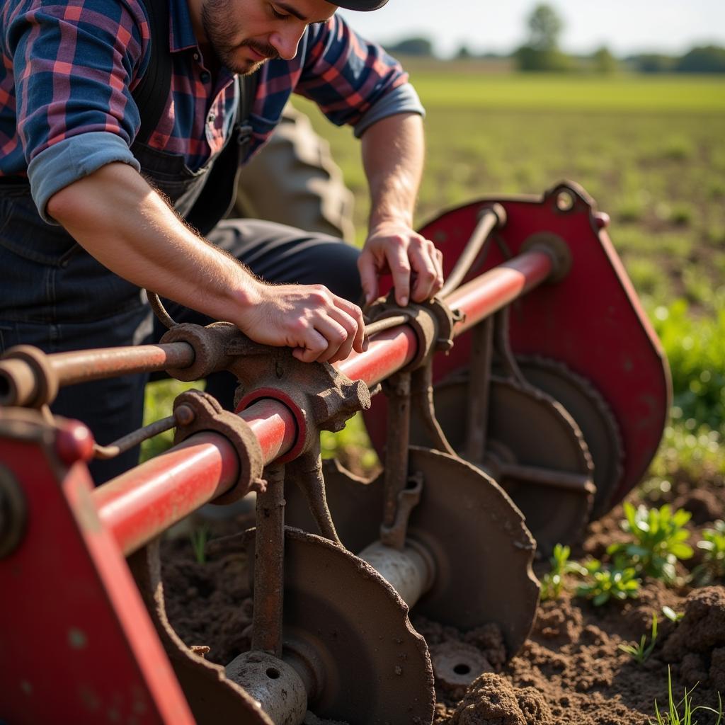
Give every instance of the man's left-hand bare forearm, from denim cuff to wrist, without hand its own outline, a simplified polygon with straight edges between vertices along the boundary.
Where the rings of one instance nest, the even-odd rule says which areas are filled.
[[[186,228],[126,164],[72,183],[47,210],[102,265],[139,287],[233,323],[254,302],[257,283],[247,270]]]

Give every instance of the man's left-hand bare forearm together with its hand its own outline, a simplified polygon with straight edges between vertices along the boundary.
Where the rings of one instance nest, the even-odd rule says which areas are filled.
[[[334,363],[365,347],[357,305],[321,285],[272,286],[196,236],[126,164],[101,167],[51,196],[51,217],[102,265],[139,287],[234,323],[253,340]]]

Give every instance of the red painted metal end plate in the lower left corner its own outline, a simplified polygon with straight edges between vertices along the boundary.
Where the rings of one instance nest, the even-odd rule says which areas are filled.
[[[58,460],[39,417],[21,426],[0,418],[0,461],[27,510],[0,559],[0,721],[194,725],[88,469]]]

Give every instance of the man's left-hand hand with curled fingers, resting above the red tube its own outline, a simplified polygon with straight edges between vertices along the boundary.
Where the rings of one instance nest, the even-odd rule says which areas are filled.
[[[352,349],[364,352],[365,323],[360,307],[321,284],[257,283],[249,305],[233,323],[253,340],[293,347],[303,363],[336,363]]]

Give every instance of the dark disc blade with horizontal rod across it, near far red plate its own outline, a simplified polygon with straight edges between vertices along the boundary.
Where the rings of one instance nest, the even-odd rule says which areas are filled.
[[[560,403],[510,378],[491,377],[486,457],[481,465],[510,495],[542,555],[583,531],[595,492],[579,426]],[[468,370],[435,389],[436,415],[456,450],[465,441]],[[413,421],[411,439],[423,431]]]

